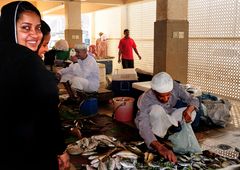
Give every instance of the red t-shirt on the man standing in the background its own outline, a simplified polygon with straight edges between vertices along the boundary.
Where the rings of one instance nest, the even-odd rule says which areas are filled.
[[[136,48],[136,44],[132,38],[122,38],[119,42],[118,48],[122,52],[122,58],[133,60],[132,49]]]

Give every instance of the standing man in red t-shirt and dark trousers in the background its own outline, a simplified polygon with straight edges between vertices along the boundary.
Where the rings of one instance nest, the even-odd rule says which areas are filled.
[[[123,68],[134,68],[134,59],[133,59],[133,53],[137,54],[139,60],[141,60],[141,56],[138,53],[137,46],[132,38],[129,37],[129,30],[124,30],[124,37],[120,40],[118,48],[118,62],[120,63],[122,61]]]

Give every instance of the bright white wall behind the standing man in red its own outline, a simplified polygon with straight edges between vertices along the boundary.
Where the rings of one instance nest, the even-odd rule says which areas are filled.
[[[139,60],[134,53],[135,68],[153,72],[153,36],[156,18],[156,1],[141,1],[121,7],[114,7],[93,13],[93,39],[103,32],[108,37],[108,55],[115,57],[113,70],[122,68],[117,62],[118,43],[123,37],[123,30],[128,28],[142,56]]]

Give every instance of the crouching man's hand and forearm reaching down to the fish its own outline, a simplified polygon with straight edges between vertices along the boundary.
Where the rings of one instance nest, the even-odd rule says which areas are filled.
[[[150,145],[165,159],[173,163],[177,162],[176,155],[171,150],[166,148],[163,144],[159,143],[158,141],[153,141]]]

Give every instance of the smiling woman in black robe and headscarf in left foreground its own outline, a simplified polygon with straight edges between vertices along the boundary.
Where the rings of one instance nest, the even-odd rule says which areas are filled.
[[[55,77],[36,53],[40,29],[40,12],[31,3],[15,1],[1,9],[0,164],[8,170],[69,167]]]

